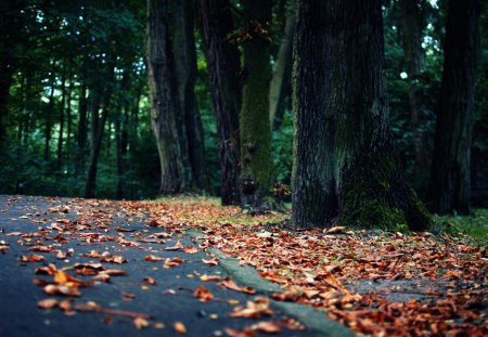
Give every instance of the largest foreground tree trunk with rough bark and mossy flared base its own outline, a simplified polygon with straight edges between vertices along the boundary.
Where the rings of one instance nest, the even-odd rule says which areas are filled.
[[[294,225],[424,229],[388,122],[381,0],[298,3]]]

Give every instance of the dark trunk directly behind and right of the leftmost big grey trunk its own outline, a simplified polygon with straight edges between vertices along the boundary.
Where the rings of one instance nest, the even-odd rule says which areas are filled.
[[[205,164],[205,146],[202,120],[195,98],[196,81],[196,52],[193,24],[193,0],[175,2],[175,68],[177,76],[177,91],[179,111],[183,119],[187,142],[181,148],[188,151],[191,167],[191,177],[196,187],[208,190],[208,179]]]

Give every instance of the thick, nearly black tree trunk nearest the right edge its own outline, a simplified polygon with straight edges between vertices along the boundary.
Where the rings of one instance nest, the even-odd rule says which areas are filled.
[[[477,53],[477,0],[450,0],[436,139],[431,170],[431,209],[470,212],[470,160]]]

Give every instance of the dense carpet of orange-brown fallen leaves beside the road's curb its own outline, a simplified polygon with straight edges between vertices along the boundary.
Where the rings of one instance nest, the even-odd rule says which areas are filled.
[[[236,208],[198,202],[127,206],[144,209],[162,226],[198,229],[205,233],[201,249],[220,249],[282,285],[284,291],[272,298],[322,309],[357,333],[488,335],[488,252],[462,237],[345,228],[293,231],[267,224],[267,217],[236,217]],[[390,295],[404,280],[423,285],[403,289],[412,296],[399,301]],[[367,282],[387,286],[355,291],[355,284]]]

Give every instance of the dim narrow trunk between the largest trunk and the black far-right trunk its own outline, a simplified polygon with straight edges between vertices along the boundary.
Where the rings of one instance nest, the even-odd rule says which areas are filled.
[[[415,151],[415,181],[422,186],[427,178],[427,134],[425,134],[425,116],[422,114],[421,88],[418,82],[424,69],[424,51],[422,49],[422,28],[424,20],[422,9],[424,0],[400,0],[400,27],[404,62],[407,63],[409,83],[410,118],[412,122]]]

